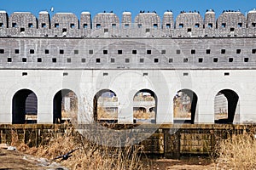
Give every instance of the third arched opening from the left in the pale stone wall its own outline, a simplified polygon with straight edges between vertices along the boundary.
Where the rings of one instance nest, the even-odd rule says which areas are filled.
[[[118,98],[109,89],[99,91],[93,100],[94,120],[96,122],[118,122]]]

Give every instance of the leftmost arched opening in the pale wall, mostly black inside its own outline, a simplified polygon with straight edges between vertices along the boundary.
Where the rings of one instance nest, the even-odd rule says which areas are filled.
[[[37,123],[38,98],[32,90],[19,90],[15,93],[12,102],[12,122],[14,124]]]

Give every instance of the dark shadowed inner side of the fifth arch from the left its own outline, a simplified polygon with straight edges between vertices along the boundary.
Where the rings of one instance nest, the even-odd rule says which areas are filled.
[[[189,90],[189,89],[182,89],[182,90],[179,90],[177,92],[177,94],[179,92],[183,92],[183,94],[186,94],[189,96],[189,99],[190,99],[190,102],[189,102],[189,111],[191,112],[191,118],[189,120],[187,119],[178,119],[178,120],[175,120],[174,119],[174,123],[191,123],[191,124],[194,124],[195,122],[195,112],[196,112],[196,105],[197,105],[197,95],[192,91],[192,90]],[[174,102],[175,102],[175,99],[177,99],[177,95],[174,97]],[[174,109],[174,108],[173,108]]]

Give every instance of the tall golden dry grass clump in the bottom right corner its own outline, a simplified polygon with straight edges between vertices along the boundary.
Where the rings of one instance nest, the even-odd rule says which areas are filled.
[[[230,136],[218,144],[217,169],[255,169],[256,140],[253,135],[243,133]]]

